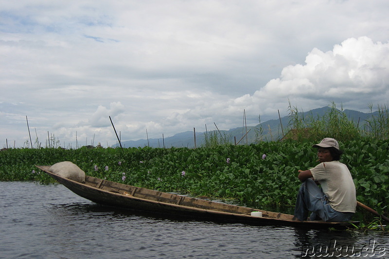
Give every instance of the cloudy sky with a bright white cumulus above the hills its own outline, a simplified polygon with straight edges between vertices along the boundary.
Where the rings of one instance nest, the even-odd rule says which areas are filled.
[[[387,0],[0,0],[0,148],[388,105]]]

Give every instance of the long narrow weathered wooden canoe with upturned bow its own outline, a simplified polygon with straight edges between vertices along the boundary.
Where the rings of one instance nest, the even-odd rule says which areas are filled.
[[[125,209],[145,210],[179,216],[207,218],[216,221],[241,222],[250,225],[298,226],[306,228],[353,227],[350,222],[296,221],[293,215],[258,210],[243,206],[208,201],[178,194],[163,193],[146,188],[86,176],[85,183],[63,178],[49,171],[50,166],[36,166],[73,193],[95,203]],[[262,217],[251,216],[261,211]],[[352,222],[357,225],[358,222]]]

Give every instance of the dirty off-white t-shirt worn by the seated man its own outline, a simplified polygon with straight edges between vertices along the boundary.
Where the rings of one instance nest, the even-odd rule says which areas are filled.
[[[309,169],[315,181],[318,181],[328,203],[340,212],[355,212],[356,194],[351,173],[344,163],[339,161],[321,162]]]

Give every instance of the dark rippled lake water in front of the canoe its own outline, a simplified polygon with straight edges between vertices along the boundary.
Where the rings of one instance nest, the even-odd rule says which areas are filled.
[[[354,257],[389,258],[389,236],[380,232],[166,218],[103,207],[59,184],[0,182],[0,190],[1,259],[331,258],[323,248],[340,245]]]

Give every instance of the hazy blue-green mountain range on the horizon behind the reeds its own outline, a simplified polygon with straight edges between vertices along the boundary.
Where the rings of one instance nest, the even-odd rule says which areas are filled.
[[[330,107],[322,107],[318,109],[313,109],[308,112],[302,112],[299,114],[299,117],[304,118],[306,116],[323,117],[324,114],[328,113],[331,110]],[[343,113],[347,117],[356,123],[359,121],[359,126],[363,126],[365,121],[371,117],[371,113],[362,113],[354,110],[343,110]],[[373,113],[374,114],[374,113]],[[239,144],[250,144],[254,143],[257,140],[261,139],[262,141],[276,141],[279,140],[285,135],[290,129],[290,117],[284,116],[280,119],[272,119],[265,122],[262,122],[255,126],[248,126],[247,136],[244,136],[246,133],[246,128],[234,128],[230,130],[220,130],[220,133],[223,136],[226,136],[230,139],[231,143],[239,142]],[[282,125],[282,127],[281,127]],[[213,131],[213,129],[212,129]],[[262,131],[262,134],[261,134]],[[210,131],[208,131],[210,133]],[[216,132],[220,134],[219,132]],[[196,146],[203,145],[205,132],[196,131]],[[261,137],[262,136],[262,137]],[[113,145],[112,147],[119,146],[119,144]],[[194,132],[185,131],[177,133],[171,137],[158,138],[158,139],[140,139],[140,140],[129,140],[122,141],[123,147],[195,147],[194,141]]]

